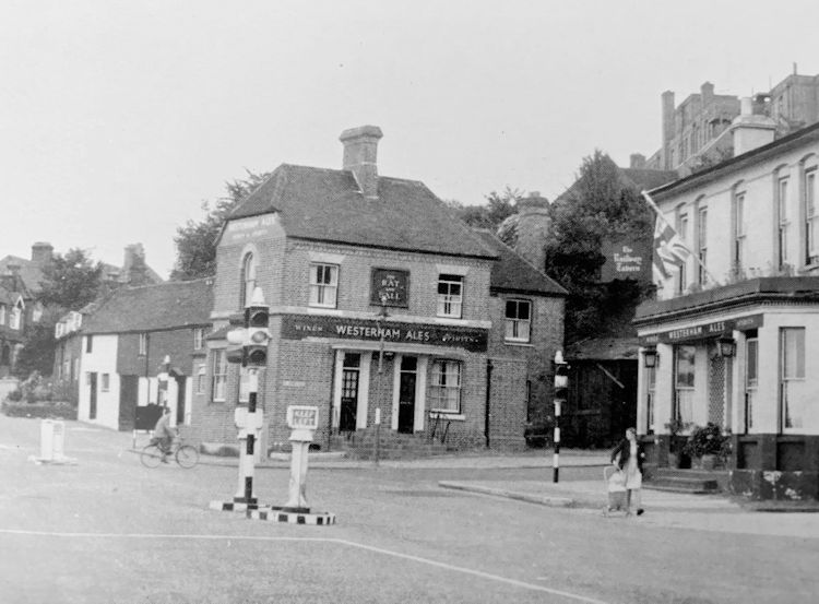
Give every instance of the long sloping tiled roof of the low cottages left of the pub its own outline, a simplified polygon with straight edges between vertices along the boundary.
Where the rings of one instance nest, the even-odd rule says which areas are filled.
[[[83,321],[84,333],[124,333],[210,324],[210,279],[122,287]]]

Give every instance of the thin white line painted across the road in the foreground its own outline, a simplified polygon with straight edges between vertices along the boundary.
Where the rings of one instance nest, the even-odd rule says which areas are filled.
[[[464,568],[461,566],[449,565],[447,562],[439,562],[430,560],[428,558],[422,558],[420,556],[413,556],[411,554],[402,554],[401,552],[392,552],[390,549],[383,549],[382,547],[375,547],[372,545],[365,545],[363,543],[356,543],[354,541],[347,541],[343,538],[332,537],[283,537],[283,536],[263,536],[263,535],[194,535],[194,534],[159,534],[159,533],[60,533],[56,531],[23,531],[17,529],[0,529],[0,534],[7,535],[28,535],[28,536],[48,536],[48,537],[84,537],[84,538],[173,538],[173,540],[200,540],[200,541],[261,541],[261,542],[317,542],[317,543],[336,543],[346,545],[349,547],[357,547],[359,549],[366,549],[368,552],[375,552],[377,554],[383,554],[385,556],[393,556],[396,558],[403,558],[405,560],[413,560],[419,564],[434,566],[437,568],[443,568],[455,572],[463,572],[464,575],[472,575],[474,577],[480,577],[482,579],[488,579],[490,581],[497,581],[500,583],[507,583],[518,588],[526,590],[538,591],[550,593],[553,595],[560,595],[578,602],[584,602],[586,604],[608,604],[602,600],[595,600],[593,597],[586,597],[577,593],[570,593],[562,590],[555,590],[551,588],[545,588],[543,585],[535,585],[533,583],[526,583],[524,581],[518,581],[515,579],[509,579],[507,577],[500,577],[498,575],[491,575],[489,572],[483,572],[480,570],[473,570],[471,568]]]

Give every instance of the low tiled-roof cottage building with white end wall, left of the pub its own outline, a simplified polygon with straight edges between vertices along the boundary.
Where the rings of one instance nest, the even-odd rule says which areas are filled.
[[[142,412],[159,403],[158,376],[167,374],[164,402],[173,422],[189,424],[212,306],[211,280],[197,280],[121,287],[67,313],[56,328],[54,378],[76,401],[78,418],[145,427]]]

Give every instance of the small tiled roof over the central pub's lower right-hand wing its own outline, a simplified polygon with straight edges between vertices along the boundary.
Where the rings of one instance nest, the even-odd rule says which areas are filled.
[[[490,287],[542,296],[566,296],[568,292],[556,281],[535,269],[491,232],[474,229],[486,248],[499,257],[492,264]]]

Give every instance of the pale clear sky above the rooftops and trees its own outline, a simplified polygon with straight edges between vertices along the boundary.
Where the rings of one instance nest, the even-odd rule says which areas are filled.
[[[0,0],[0,258],[35,241],[167,276],[179,226],[246,170],[341,168],[484,203],[553,200],[596,149],[661,142],[663,91],[819,74],[819,2]]]

